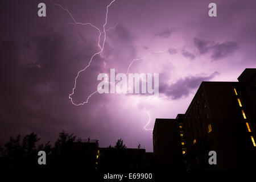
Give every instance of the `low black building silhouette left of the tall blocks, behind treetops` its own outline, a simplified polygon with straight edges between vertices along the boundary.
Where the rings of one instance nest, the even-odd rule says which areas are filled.
[[[146,152],[144,148],[98,147],[95,141],[78,140],[65,144],[57,161],[58,167],[86,173],[154,171],[152,152]]]

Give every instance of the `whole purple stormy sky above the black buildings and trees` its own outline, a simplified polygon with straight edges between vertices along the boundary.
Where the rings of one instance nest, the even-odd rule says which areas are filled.
[[[37,15],[40,2],[46,18]],[[152,131],[144,127],[184,113],[201,81],[237,81],[243,69],[256,68],[254,0],[116,0],[104,51],[80,73],[73,101],[84,102],[97,90],[99,73],[126,73],[133,59],[152,51],[164,52],[134,61],[129,72],[159,73],[159,97],[96,93],[75,106],[68,96],[77,72],[100,49],[98,30],[72,24],[69,13],[103,31],[111,1],[67,0],[69,13],[53,2],[65,7],[65,1],[0,2],[0,143],[31,131],[42,142],[54,141],[65,130],[97,138],[100,147],[122,138],[128,147],[141,143],[152,151]],[[217,4],[217,17],[208,16],[210,2]]]

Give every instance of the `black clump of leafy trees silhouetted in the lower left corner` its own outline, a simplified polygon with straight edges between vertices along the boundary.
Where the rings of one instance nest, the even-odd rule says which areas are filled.
[[[25,135],[22,141],[20,135],[16,138],[10,137],[9,142],[0,146],[0,171],[31,171],[43,167],[38,165],[40,150],[46,152],[48,162],[51,161],[51,167],[59,167],[61,151],[67,143],[72,143],[75,139],[76,136],[73,133],[68,134],[62,131],[52,148],[50,142],[38,144],[40,138],[34,132]]]

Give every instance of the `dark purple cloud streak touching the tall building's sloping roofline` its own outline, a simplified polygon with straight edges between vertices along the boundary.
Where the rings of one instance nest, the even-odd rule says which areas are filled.
[[[187,76],[185,78],[180,78],[174,84],[160,84],[159,93],[163,93],[172,100],[179,99],[183,96],[188,96],[188,94],[199,87],[202,81],[208,81],[214,76],[218,75],[218,72],[212,73],[210,76]]]

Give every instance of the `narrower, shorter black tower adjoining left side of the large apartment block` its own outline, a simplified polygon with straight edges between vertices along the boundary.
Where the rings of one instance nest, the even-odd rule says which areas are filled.
[[[157,168],[185,170],[184,114],[176,119],[156,119],[153,130],[153,147]]]

